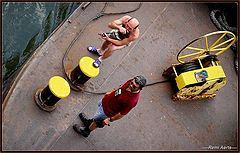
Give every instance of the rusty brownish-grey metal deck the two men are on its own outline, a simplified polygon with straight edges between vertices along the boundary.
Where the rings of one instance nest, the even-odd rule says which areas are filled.
[[[106,11],[125,11],[138,3],[109,3]],[[212,100],[173,102],[169,83],[144,88],[136,108],[110,127],[93,131],[84,138],[73,131],[80,123],[78,114],[92,116],[102,96],[71,91],[56,110],[44,112],[34,102],[38,88],[45,87],[54,75],[63,75],[61,60],[68,45],[81,28],[103,8],[91,3],[79,8],[40,46],[19,75],[3,111],[3,150],[211,150],[237,148],[237,75],[233,53],[219,59],[228,82]],[[185,44],[204,34],[217,31],[201,3],[144,2],[130,15],[140,21],[140,38],[130,47],[116,51],[103,61],[98,77],[90,79],[86,90],[111,90],[135,75],[148,83],[163,80],[164,69],[176,63],[176,54]],[[97,33],[122,15],[104,16],[92,22],[71,48],[67,67],[74,68],[88,53],[88,45],[99,46]],[[231,148],[232,147],[232,148]]]

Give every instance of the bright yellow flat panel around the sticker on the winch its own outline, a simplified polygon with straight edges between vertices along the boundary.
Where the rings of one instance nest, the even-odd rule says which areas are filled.
[[[193,71],[188,71],[188,72],[181,73],[175,78],[178,89],[181,90],[187,85],[198,83],[195,77],[195,73],[201,72],[203,70],[205,70],[208,73],[208,77],[206,78],[206,81],[226,77],[223,71],[223,68],[221,66],[212,66],[212,67],[206,67],[206,68],[197,69]]]

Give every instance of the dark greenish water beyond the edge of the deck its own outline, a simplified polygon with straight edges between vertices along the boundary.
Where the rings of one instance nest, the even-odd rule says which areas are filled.
[[[80,3],[2,3],[3,97],[22,65]]]

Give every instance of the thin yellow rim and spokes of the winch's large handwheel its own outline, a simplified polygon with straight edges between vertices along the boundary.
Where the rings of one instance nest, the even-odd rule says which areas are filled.
[[[227,40],[225,40],[224,36],[226,36],[227,34],[229,36],[231,36],[231,38],[228,38]],[[215,38],[215,36],[219,36],[219,35],[220,35],[220,37],[217,40],[215,40],[212,44],[209,44],[210,38]],[[200,42],[202,39],[205,40],[204,41],[205,46],[203,46],[202,48],[194,46],[198,42]],[[191,60],[197,59],[199,56],[204,55],[209,52],[211,52],[212,55],[213,54],[219,55],[219,54],[223,53],[224,51],[226,51],[233,43],[235,43],[235,41],[236,41],[236,36],[230,31],[212,32],[212,33],[206,34],[202,37],[199,37],[199,38],[193,40],[192,42],[187,44],[185,47],[183,47],[178,53],[177,60],[180,63],[185,63],[185,62],[189,62]],[[223,45],[227,45],[227,46],[224,47]],[[181,53],[186,49],[191,50],[193,53],[181,55]],[[198,52],[196,52],[196,51],[198,51]],[[191,60],[183,61],[184,59],[187,59],[189,57],[192,57]]]

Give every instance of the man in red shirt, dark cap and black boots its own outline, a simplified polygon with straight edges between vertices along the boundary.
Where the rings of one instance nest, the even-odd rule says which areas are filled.
[[[84,126],[75,124],[73,129],[84,137],[88,137],[97,127],[103,128],[104,125],[122,118],[137,105],[140,91],[146,82],[143,76],[136,76],[118,89],[106,93],[98,102],[98,110],[93,119],[87,119],[84,113],[80,113],[79,117]]]

